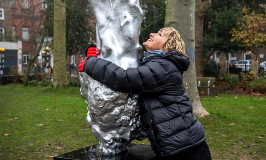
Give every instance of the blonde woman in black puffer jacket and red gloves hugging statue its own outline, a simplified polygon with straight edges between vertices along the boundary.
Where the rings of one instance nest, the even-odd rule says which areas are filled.
[[[112,90],[138,93],[140,114],[153,151],[168,159],[211,159],[201,123],[192,113],[182,74],[189,67],[185,44],[174,28],[151,33],[140,67],[123,68],[97,58],[89,48],[79,65],[91,78]],[[158,158],[160,159],[160,158]]]

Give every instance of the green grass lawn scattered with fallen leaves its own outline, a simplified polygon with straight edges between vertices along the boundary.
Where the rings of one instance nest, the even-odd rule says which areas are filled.
[[[0,86],[0,159],[47,159],[97,144],[79,89]],[[213,159],[266,159],[265,96],[218,95],[201,103],[210,112],[198,119]]]

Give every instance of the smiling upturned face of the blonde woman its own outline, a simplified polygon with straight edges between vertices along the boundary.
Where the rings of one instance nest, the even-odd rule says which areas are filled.
[[[158,33],[151,33],[149,39],[143,43],[147,52],[162,50],[163,46],[167,42],[168,38],[163,34],[163,31],[159,31]]]

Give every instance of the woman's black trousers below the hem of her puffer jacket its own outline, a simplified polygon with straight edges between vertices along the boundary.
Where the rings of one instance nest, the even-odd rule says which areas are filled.
[[[196,147],[184,150],[174,156],[154,157],[150,160],[211,160],[208,144],[204,141]]]

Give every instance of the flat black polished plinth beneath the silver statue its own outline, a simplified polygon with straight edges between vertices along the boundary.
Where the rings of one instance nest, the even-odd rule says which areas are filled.
[[[156,157],[150,145],[130,144],[126,152],[115,156],[100,155],[97,144],[53,157],[54,160],[149,160]]]

